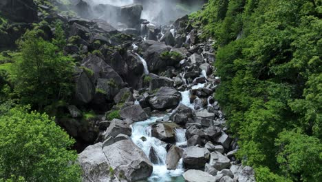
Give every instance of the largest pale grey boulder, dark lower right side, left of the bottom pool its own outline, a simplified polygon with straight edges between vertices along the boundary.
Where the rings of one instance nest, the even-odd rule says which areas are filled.
[[[116,176],[127,181],[140,181],[152,174],[153,166],[144,152],[130,140],[118,141],[103,148],[109,165]]]

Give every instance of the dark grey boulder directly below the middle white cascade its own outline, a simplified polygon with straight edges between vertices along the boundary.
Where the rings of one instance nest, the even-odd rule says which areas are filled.
[[[175,123],[183,124],[186,123],[186,121],[188,121],[188,119],[192,117],[193,114],[191,108],[180,103],[180,105],[178,105],[178,107],[175,108],[175,110],[172,112],[170,119]]]

